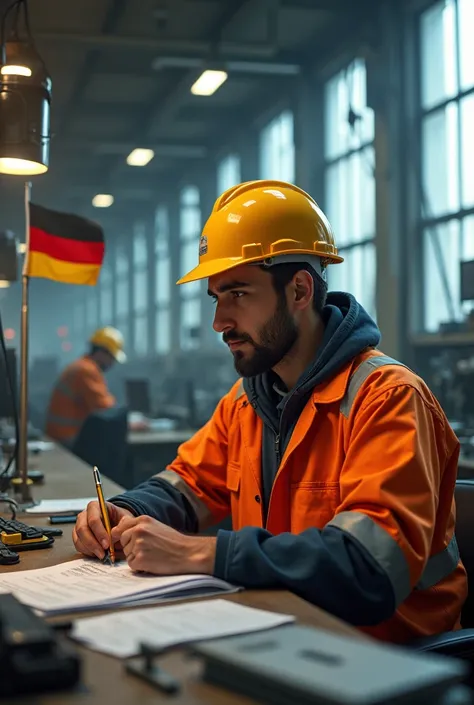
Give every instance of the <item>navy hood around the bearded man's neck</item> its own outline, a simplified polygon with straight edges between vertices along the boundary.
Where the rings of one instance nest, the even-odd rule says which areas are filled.
[[[278,419],[297,397],[306,403],[313,388],[334,376],[347,362],[368,347],[380,343],[380,331],[351,294],[331,292],[323,309],[325,332],[314,360],[304,370],[295,387],[283,398],[275,392],[277,376],[270,370],[244,379],[244,389],[265,423],[278,427]],[[297,392],[297,394],[295,394]]]

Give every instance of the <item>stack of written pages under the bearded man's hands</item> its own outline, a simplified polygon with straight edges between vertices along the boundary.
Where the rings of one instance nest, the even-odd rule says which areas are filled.
[[[125,562],[103,565],[88,558],[49,568],[0,574],[0,593],[13,593],[20,602],[45,616],[146,605],[238,589],[209,575],[158,577],[134,573]]]

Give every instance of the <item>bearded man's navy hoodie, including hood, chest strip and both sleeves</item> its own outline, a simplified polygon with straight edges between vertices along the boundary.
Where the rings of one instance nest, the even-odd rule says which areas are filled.
[[[325,334],[311,365],[286,393],[273,372],[244,380],[262,418],[264,511],[280,458],[312,390],[348,361],[380,342],[380,332],[355,298],[333,292],[323,312]],[[315,449],[317,452],[317,449]],[[111,500],[135,515],[148,514],[179,531],[196,532],[186,498],[159,476]],[[220,530],[214,575],[247,588],[285,588],[355,625],[373,625],[395,610],[391,582],[358,541],[335,526],[273,536],[262,528]]]

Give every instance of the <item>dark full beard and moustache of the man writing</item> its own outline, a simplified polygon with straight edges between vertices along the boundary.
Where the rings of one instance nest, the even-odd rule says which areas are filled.
[[[230,331],[224,334],[224,342],[245,341],[253,347],[253,354],[245,355],[236,350],[234,367],[242,377],[255,377],[275,367],[294,346],[298,339],[298,328],[294,322],[283,295],[278,297],[275,313],[260,330],[260,342],[256,343],[249,335]]]

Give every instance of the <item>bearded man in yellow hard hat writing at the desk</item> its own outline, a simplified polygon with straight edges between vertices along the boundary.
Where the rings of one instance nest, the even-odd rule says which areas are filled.
[[[377,346],[315,201],[279,181],[226,191],[199,264],[242,376],[177,458],[109,502],[133,570],[283,588],[391,642],[459,628],[466,573],[454,534],[459,443],[426,384]],[[157,468],[157,470],[159,470]],[[196,535],[231,514],[233,530]],[[97,502],[76,548],[101,558]]]

